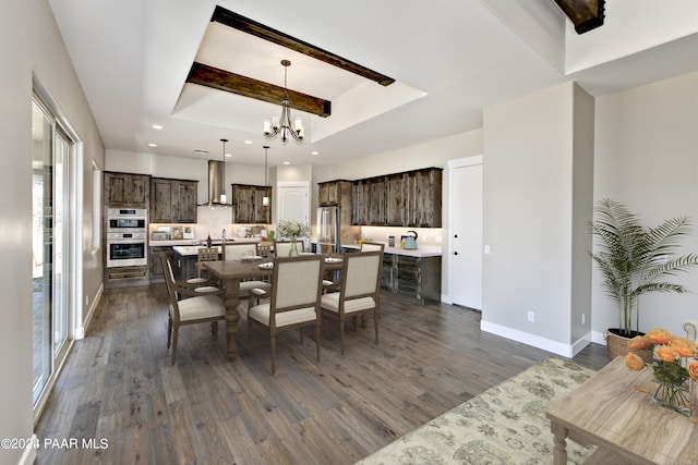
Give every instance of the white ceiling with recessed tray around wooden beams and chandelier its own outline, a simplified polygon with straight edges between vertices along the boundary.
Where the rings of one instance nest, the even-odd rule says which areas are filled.
[[[263,164],[263,145],[272,166],[347,162],[481,127],[484,107],[570,78],[598,96],[698,68],[695,40],[684,40],[565,76],[571,26],[552,0],[49,3],[107,149],[219,159],[228,138],[228,161],[246,164]],[[210,23],[216,4],[397,83],[383,87]],[[333,105],[327,119],[293,111],[303,117],[302,145],[262,135],[279,106],[185,84],[200,61],[282,86],[281,59],[292,62],[289,88]]]

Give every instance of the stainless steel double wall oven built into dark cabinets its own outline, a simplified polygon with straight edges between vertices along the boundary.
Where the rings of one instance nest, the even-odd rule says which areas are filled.
[[[107,268],[148,264],[148,211],[107,208]]]

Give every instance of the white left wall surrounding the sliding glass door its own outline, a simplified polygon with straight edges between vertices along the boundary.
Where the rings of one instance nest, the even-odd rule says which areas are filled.
[[[101,256],[92,254],[92,162],[104,167],[104,146],[46,0],[0,3],[0,50],[10,66],[0,73],[0,135],[4,144],[0,183],[0,269],[3,296],[0,325],[0,438],[29,438],[32,413],[32,152],[31,110],[34,71],[83,142],[83,290],[101,286]],[[77,297],[83,302],[82,296]],[[84,305],[84,304],[83,304]],[[87,307],[82,310],[86,315]],[[79,311],[81,313],[81,311]],[[79,323],[80,325],[80,323]],[[22,450],[0,450],[0,463],[21,463]]]

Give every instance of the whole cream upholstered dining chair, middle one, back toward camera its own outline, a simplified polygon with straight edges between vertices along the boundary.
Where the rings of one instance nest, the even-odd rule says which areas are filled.
[[[276,334],[299,328],[301,343],[303,328],[315,328],[315,351],[320,363],[320,297],[324,261],[320,255],[277,257],[272,273],[272,295],[267,303],[248,310],[248,344],[252,354],[254,327],[264,328],[269,334],[272,348],[272,375],[276,371]]]

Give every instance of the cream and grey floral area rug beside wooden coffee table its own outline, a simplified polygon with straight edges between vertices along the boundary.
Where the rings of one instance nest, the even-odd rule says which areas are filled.
[[[547,358],[395,440],[357,465],[552,464],[547,407],[594,375]],[[595,448],[567,439],[567,461],[582,464]]]

